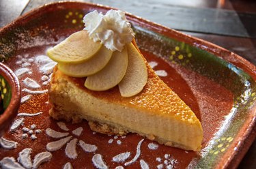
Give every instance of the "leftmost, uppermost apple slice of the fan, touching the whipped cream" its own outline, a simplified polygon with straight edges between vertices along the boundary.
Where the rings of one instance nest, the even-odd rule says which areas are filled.
[[[66,40],[47,50],[47,55],[58,63],[81,63],[93,57],[102,47],[90,40],[87,31],[78,31]]]

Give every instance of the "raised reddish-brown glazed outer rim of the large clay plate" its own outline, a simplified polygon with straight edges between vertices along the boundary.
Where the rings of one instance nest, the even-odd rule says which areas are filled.
[[[45,5],[41,5],[40,7],[35,7],[33,10],[30,10],[29,12],[23,14],[22,16],[19,16],[12,22],[10,22],[8,25],[5,25],[5,27],[2,27],[0,29],[0,36],[1,33],[4,33],[5,31],[8,31],[9,29],[15,28],[20,21],[25,20],[26,18],[29,18],[30,16],[33,16],[33,14],[40,12],[41,10],[45,10],[47,7],[54,7],[57,5],[68,5],[68,4],[74,4],[74,5],[88,5],[90,7],[97,7],[101,8],[102,10],[111,10],[117,8],[110,7],[108,5],[101,5],[98,3],[89,3],[89,2],[80,2],[80,1],[57,1],[57,2],[51,2],[46,3]],[[171,29],[169,27],[165,27],[163,25],[160,25],[156,22],[152,22],[150,20],[141,18],[139,16],[135,16],[129,12],[126,12],[126,16],[128,20],[132,22],[137,22],[137,24],[141,27],[145,27],[147,29],[150,29],[151,31],[154,31],[156,33],[160,33],[162,35],[165,35],[167,37],[173,38],[178,41],[186,41],[186,44],[190,44],[190,46],[200,48],[201,50],[205,50],[207,52],[212,53],[216,57],[220,57],[221,59],[232,63],[233,65],[236,65],[236,67],[239,67],[244,72],[249,74],[253,80],[256,81],[256,66],[253,65],[253,63],[247,61],[243,57],[240,57],[239,55],[221,47],[216,44],[212,44],[211,42],[201,40],[200,38],[193,37],[191,35],[186,35],[185,33],[182,33],[180,31],[175,31],[174,29]],[[230,148],[226,151],[226,153],[223,155],[223,157],[219,160],[218,164],[216,164],[215,168],[236,168],[240,162],[242,161],[242,158],[248,151],[249,147],[251,147],[251,144],[256,138],[256,134],[253,134],[256,132],[256,106],[253,106],[250,117],[246,120],[247,123],[244,123],[243,127],[241,127],[240,132],[237,133],[237,136],[242,137],[240,139],[240,142],[242,144],[236,145],[237,150],[236,151],[230,151],[231,148],[235,147],[233,142],[230,145]],[[234,140],[236,140],[236,138]],[[232,146],[233,145],[233,146]],[[229,153],[229,154],[228,154]],[[228,155],[227,155],[228,154]],[[239,154],[239,155],[238,155]],[[227,157],[227,158],[224,158]]]

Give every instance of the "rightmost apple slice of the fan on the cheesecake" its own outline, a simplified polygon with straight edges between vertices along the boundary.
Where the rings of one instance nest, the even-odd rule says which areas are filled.
[[[127,44],[128,67],[126,75],[118,84],[122,97],[132,97],[143,90],[147,83],[147,67],[141,53],[130,43]]]

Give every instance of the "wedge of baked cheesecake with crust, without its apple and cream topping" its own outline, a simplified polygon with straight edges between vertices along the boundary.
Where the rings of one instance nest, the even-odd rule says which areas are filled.
[[[146,61],[145,64],[147,84],[132,97],[122,97],[117,86],[91,91],[84,86],[86,78],[66,76],[55,67],[49,89],[49,114],[74,123],[86,119],[92,130],[102,134],[133,132],[160,144],[199,151],[203,138],[199,119]]]

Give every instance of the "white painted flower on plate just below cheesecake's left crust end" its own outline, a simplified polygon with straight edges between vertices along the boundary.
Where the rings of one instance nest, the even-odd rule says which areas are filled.
[[[79,140],[78,138],[74,138],[74,136],[81,136],[83,132],[82,127],[78,127],[74,129],[71,133],[68,132],[69,129],[66,127],[66,124],[63,122],[58,122],[57,125],[66,132],[57,132],[51,128],[46,129],[47,136],[51,138],[60,138],[57,141],[48,142],[46,145],[46,149],[48,151],[57,151],[61,149],[66,144],[65,153],[70,159],[76,159],[76,143],[79,141],[79,146],[83,149],[83,151],[91,153],[98,149],[95,145],[87,144],[83,140]]]

